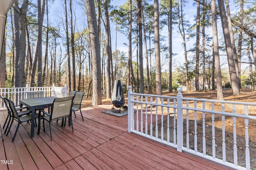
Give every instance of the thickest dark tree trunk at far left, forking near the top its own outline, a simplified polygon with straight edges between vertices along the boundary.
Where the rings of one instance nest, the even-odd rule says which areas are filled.
[[[26,13],[28,0],[24,0],[18,7],[18,0],[14,3],[14,87],[25,87],[25,56],[26,56]]]

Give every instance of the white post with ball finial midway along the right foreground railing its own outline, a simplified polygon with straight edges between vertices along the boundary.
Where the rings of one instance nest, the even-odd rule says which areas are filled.
[[[177,151],[182,152],[183,147],[183,112],[182,112],[182,88],[178,88],[177,94]]]

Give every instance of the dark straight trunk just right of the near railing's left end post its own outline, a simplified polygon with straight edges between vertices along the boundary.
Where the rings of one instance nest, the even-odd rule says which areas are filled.
[[[143,68],[143,47],[142,47],[142,0],[138,2],[138,29],[139,29],[139,63],[140,63],[140,93],[144,93],[144,68]]]

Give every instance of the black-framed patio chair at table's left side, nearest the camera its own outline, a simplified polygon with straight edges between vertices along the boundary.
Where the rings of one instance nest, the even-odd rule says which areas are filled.
[[[9,107],[10,107],[10,111],[12,112],[12,122],[10,124],[10,127],[8,129],[8,132],[6,133],[6,136],[8,135],[8,133],[10,132],[10,129],[12,127],[12,123],[14,120],[18,121],[18,125],[16,127],[16,131],[14,133],[14,136],[12,137],[12,142],[14,141],[15,137],[16,137],[16,134],[17,134],[17,131],[19,129],[19,126],[20,126],[20,123],[22,122],[28,122],[32,119],[32,111],[31,110],[25,110],[25,111],[17,111],[15,105],[14,105],[14,102],[12,102],[12,100],[9,100],[8,99],[8,104],[9,104]],[[35,119],[38,118],[38,113],[35,113]],[[40,120],[38,120],[40,121]],[[40,127],[38,127],[40,128]]]

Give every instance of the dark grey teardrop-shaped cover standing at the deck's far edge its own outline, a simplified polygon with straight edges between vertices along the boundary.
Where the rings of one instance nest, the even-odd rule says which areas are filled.
[[[115,107],[123,107],[125,104],[124,92],[120,80],[115,80],[111,94],[111,102]]]

